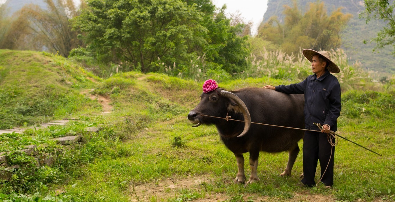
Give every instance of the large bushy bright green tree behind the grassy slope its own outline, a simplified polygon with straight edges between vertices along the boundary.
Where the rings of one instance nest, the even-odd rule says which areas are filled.
[[[206,53],[210,68],[236,71],[245,40],[214,11],[211,0],[88,0],[75,28],[88,52],[102,62],[129,64],[145,73],[158,71],[159,64],[183,69]],[[224,59],[229,54],[242,55]]]

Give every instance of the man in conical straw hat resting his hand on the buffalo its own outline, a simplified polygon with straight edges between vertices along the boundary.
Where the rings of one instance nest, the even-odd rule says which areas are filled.
[[[306,131],[303,138],[303,179],[301,185],[312,187],[316,183],[317,161],[320,160],[321,182],[325,188],[333,186],[333,158],[335,146],[331,146],[327,133],[337,130],[340,116],[340,84],[331,73],[339,73],[339,67],[331,61],[327,51],[304,49],[303,55],[310,60],[312,73],[304,81],[287,86],[263,86],[286,94],[305,94],[305,127],[319,130],[313,123],[323,125],[320,132]],[[326,134],[325,134],[326,133]],[[333,142],[334,143],[334,142]],[[329,163],[328,163],[329,162]],[[325,171],[326,170],[326,171]]]

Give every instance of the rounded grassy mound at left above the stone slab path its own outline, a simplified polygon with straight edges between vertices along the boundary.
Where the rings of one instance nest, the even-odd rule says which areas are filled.
[[[99,107],[80,93],[95,88],[94,79],[100,80],[60,56],[0,50],[0,129],[35,125]]]

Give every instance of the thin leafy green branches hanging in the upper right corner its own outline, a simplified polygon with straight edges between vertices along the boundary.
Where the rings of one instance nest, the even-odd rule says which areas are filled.
[[[387,23],[387,27],[383,27],[380,32],[377,33],[377,37],[373,38],[372,41],[376,42],[376,48],[382,49],[386,45],[393,45],[395,55],[395,18],[394,18],[394,7],[395,1],[389,0],[364,0],[365,10],[359,14],[359,18],[364,18],[366,23],[372,19],[381,19]],[[390,4],[391,2],[391,4]],[[366,41],[364,41],[366,43]]]

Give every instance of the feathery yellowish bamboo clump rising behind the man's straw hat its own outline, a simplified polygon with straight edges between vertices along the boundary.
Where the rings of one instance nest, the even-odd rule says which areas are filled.
[[[272,17],[260,26],[258,37],[279,45],[288,54],[296,53],[299,47],[328,50],[341,44],[341,32],[351,14],[343,14],[341,8],[327,15],[324,3],[310,3],[302,15],[296,1],[293,7],[284,6],[284,24]]]

